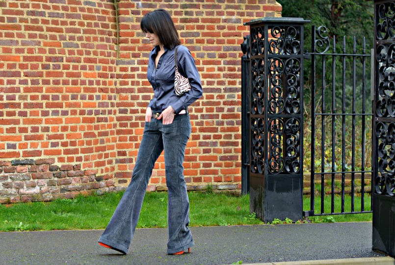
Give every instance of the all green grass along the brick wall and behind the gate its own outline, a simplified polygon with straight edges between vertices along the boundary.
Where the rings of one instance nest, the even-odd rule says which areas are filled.
[[[52,202],[0,205],[0,231],[104,229],[123,192]],[[190,226],[263,224],[249,212],[249,195],[190,192]],[[368,196],[366,200],[368,200]],[[330,199],[330,198],[329,198]],[[370,205],[370,202],[368,203]],[[328,204],[329,205],[329,204]],[[310,207],[306,198],[305,210]],[[316,199],[316,209],[319,209]],[[328,217],[310,217],[327,221]],[[371,214],[336,215],[335,221],[370,221]],[[296,220],[294,220],[296,221]],[[167,193],[146,193],[138,228],[167,226]]]

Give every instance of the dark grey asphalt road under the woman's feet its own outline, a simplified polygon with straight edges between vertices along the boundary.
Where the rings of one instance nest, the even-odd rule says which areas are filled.
[[[191,227],[191,253],[166,254],[167,229],[137,229],[127,255],[99,246],[102,230],[1,232],[1,265],[225,265],[383,257],[371,222]]]

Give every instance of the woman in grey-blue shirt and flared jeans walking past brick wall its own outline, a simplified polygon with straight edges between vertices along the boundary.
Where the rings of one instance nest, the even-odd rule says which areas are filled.
[[[126,254],[155,162],[164,150],[168,188],[167,254],[183,254],[194,245],[189,231],[189,199],[184,180],[185,146],[191,133],[187,107],[203,95],[200,76],[189,50],[181,46],[177,29],[167,11],[154,10],[140,23],[154,48],[150,52],[147,77],[154,98],[145,113],[144,134],[133,169],[132,180],[111,217],[99,244]],[[183,96],[174,92],[175,51],[178,70],[189,80],[191,90]]]

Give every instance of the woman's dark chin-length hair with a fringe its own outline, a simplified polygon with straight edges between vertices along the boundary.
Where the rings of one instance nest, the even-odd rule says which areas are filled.
[[[156,9],[144,15],[140,22],[141,30],[144,33],[154,33],[158,35],[159,41],[164,47],[173,49],[181,45],[178,32],[170,14],[164,9]]]

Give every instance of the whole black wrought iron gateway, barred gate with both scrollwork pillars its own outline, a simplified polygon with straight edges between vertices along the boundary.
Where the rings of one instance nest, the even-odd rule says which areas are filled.
[[[331,47],[329,37],[323,36],[325,28],[313,27],[312,51],[304,52],[308,21],[263,18],[246,23],[250,35],[242,44],[242,193],[250,193],[250,210],[264,221],[296,220],[302,212],[306,217],[367,213],[371,206],[372,248],[394,257],[395,1],[374,0],[374,20],[371,100],[365,41],[357,52],[354,38],[349,52],[343,39],[338,52],[336,38]],[[305,59],[311,60],[312,70],[306,86],[312,92],[311,125],[303,117]],[[311,126],[311,146],[305,150],[304,123]],[[303,211],[303,157],[308,150],[311,203]],[[371,202],[365,196],[370,187]],[[339,209],[336,197],[341,198]]]

